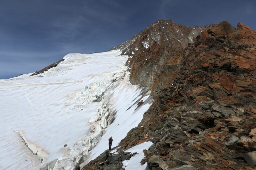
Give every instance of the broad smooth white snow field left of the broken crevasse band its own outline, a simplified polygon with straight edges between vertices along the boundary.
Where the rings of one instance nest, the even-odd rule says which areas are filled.
[[[88,121],[99,109],[93,95],[83,105],[78,94],[123,75],[127,57],[119,54],[68,54],[45,73],[0,80],[1,169],[39,169],[67,152],[76,155],[73,144],[91,135]]]

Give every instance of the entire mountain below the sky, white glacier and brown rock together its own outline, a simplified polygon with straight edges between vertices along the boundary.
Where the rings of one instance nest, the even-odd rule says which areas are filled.
[[[0,80],[0,169],[253,169],[255,46],[241,23],[159,20],[108,52]]]

